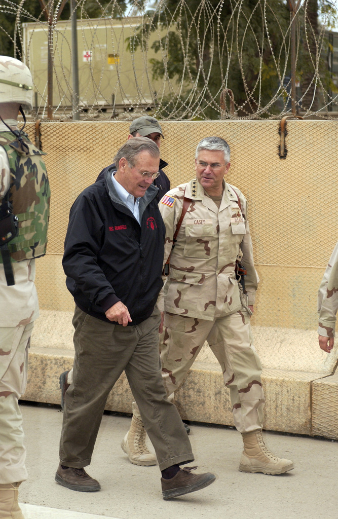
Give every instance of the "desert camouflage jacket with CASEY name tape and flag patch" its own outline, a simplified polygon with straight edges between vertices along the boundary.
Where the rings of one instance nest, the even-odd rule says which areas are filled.
[[[185,197],[191,200],[191,204],[172,249],[185,187]],[[218,209],[195,179],[171,189],[160,201],[159,209],[166,225],[165,261],[171,251],[170,274],[164,287],[165,310],[213,320],[241,309],[235,277],[235,262],[240,253],[241,263],[248,272],[245,278],[248,304],[252,305],[258,276],[253,266],[247,203],[240,190],[225,184]],[[233,234],[231,218],[241,215],[245,217],[246,234]],[[163,310],[160,299],[158,307]]]

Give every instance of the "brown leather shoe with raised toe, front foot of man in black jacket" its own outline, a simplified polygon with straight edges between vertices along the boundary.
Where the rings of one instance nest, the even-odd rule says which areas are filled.
[[[196,490],[200,490],[215,481],[215,476],[210,472],[205,474],[192,474],[191,470],[197,467],[184,467],[179,472],[171,477],[170,480],[165,480],[161,477],[162,495],[163,499],[171,499],[172,497],[183,496],[190,494]]]

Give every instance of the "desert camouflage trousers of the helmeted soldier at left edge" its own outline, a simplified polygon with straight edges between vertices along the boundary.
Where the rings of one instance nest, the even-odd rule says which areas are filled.
[[[33,326],[0,327],[0,484],[27,479],[18,400],[27,383]]]

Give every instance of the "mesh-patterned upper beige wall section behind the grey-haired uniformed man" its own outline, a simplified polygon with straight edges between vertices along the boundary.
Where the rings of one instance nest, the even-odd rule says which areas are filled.
[[[194,175],[200,139],[216,134],[227,140],[227,180],[248,198],[257,264],[326,263],[338,239],[338,122],[288,121],[286,159],[278,156],[279,121],[183,121],[164,129],[173,184]]]

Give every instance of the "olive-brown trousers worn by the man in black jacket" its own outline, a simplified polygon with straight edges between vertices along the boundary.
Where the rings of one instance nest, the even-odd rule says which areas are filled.
[[[107,396],[125,371],[160,470],[193,461],[178,411],[167,400],[158,351],[160,315],[136,326],[106,323],[75,308],[73,382],[65,395],[60,460],[89,465]]]

